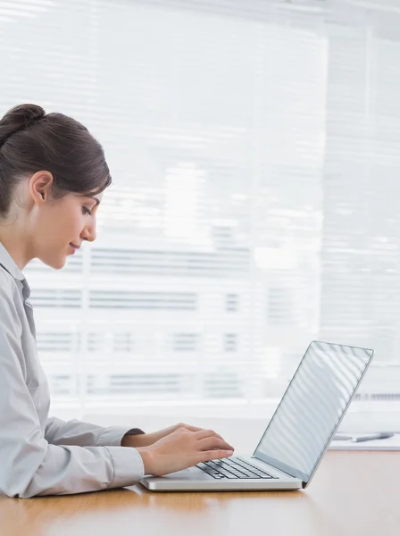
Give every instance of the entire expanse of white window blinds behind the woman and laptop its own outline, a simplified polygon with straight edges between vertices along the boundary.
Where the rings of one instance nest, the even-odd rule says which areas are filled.
[[[377,348],[361,395],[393,394],[400,26],[376,4],[0,0],[1,109],[84,122],[114,180],[96,243],[26,270],[60,405],[276,400],[318,337]]]

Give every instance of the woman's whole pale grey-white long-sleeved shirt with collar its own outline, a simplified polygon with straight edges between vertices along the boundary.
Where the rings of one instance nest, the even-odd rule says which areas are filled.
[[[29,285],[0,243],[0,494],[80,493],[130,486],[144,476],[128,431],[49,417]]]

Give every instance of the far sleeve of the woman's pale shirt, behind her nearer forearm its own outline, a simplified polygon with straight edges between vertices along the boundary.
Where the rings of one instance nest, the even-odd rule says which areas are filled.
[[[98,426],[77,419],[63,421],[49,417],[46,422],[45,438],[53,445],[79,445],[79,447],[121,447],[124,435],[145,433],[138,428],[124,426]]]

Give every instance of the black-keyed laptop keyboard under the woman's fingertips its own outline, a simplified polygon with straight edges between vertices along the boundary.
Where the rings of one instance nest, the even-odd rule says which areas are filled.
[[[221,480],[228,479],[277,479],[277,476],[272,476],[260,467],[249,464],[238,457],[223,458],[220,460],[212,460],[210,462],[201,462],[196,467],[209,474],[212,478]]]

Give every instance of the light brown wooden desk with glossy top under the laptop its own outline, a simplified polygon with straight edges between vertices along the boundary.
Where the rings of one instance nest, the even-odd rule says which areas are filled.
[[[307,490],[0,497],[1,536],[398,536],[400,452],[328,452]]]

